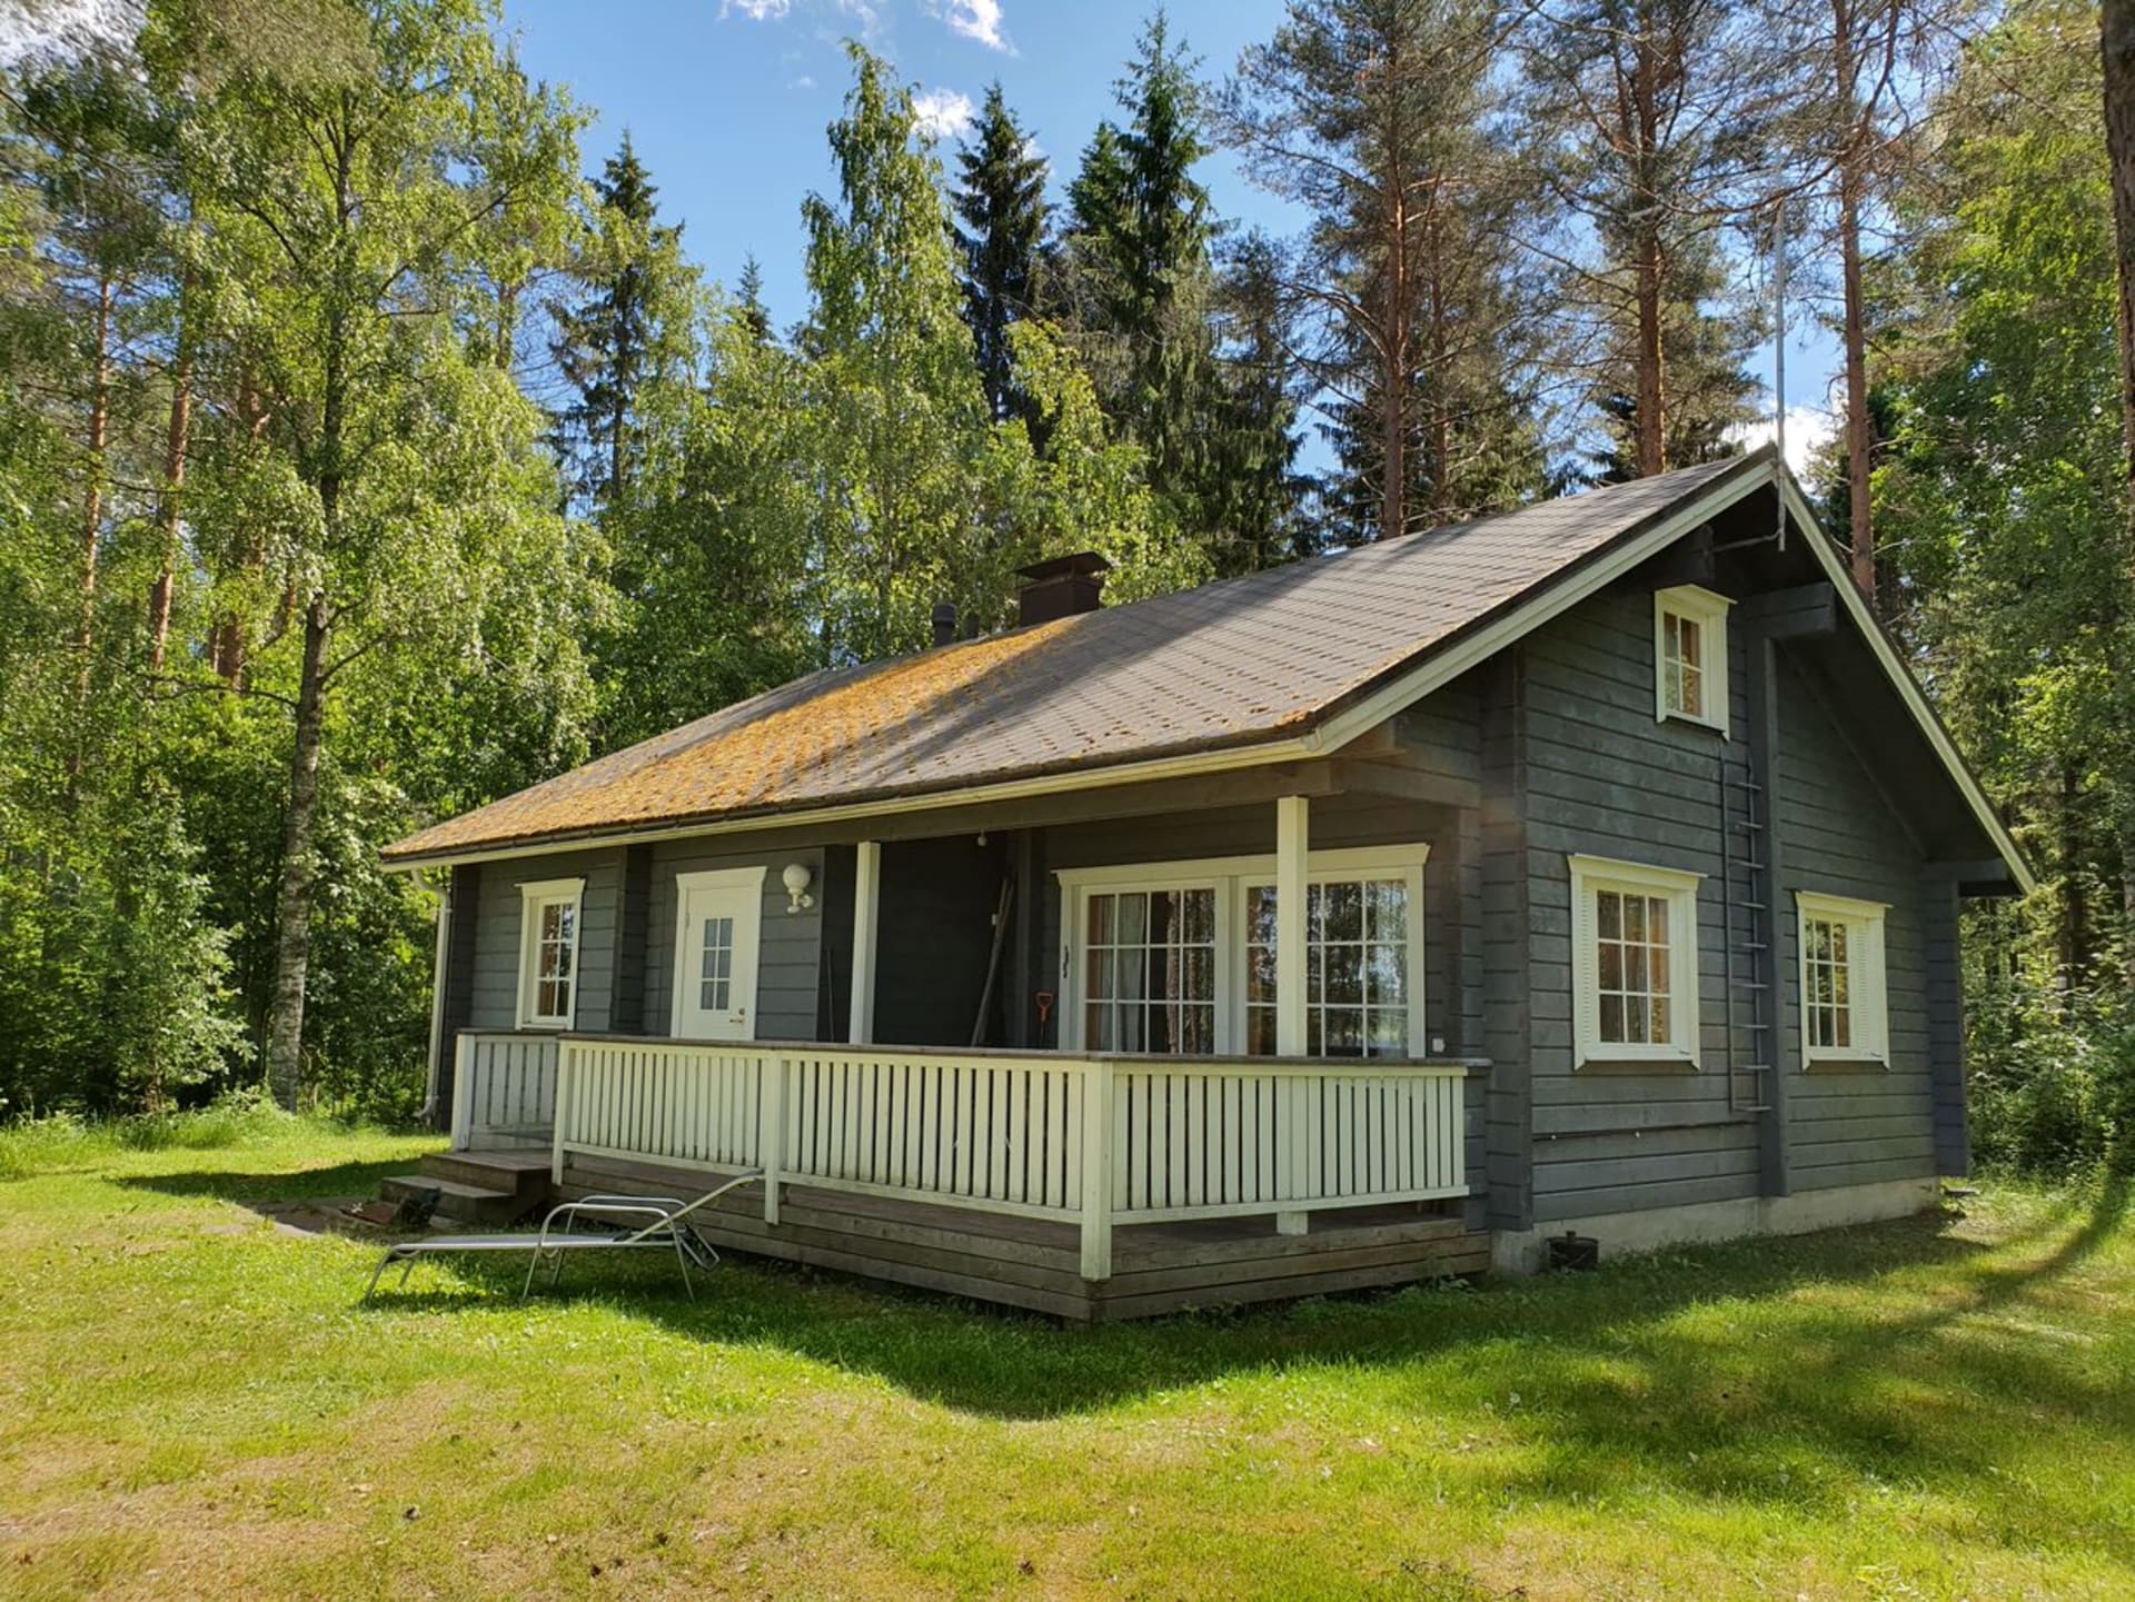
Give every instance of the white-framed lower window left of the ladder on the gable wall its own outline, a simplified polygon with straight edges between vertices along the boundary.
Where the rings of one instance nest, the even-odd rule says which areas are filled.
[[[1578,1060],[1697,1062],[1697,875],[1571,858]]]

